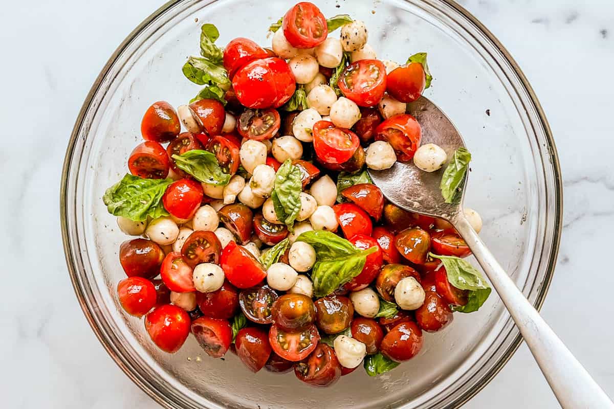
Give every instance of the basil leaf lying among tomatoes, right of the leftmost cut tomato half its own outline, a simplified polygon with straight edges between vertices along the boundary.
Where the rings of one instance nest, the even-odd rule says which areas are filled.
[[[179,169],[192,175],[198,182],[223,186],[230,181],[230,175],[222,171],[216,155],[209,151],[188,150],[181,155],[173,155],[173,159]]]

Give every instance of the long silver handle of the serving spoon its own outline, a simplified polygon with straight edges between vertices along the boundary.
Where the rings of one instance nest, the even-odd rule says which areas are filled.
[[[613,409],[612,400],[508,277],[462,212],[459,212],[453,224],[499,293],[561,407]]]

